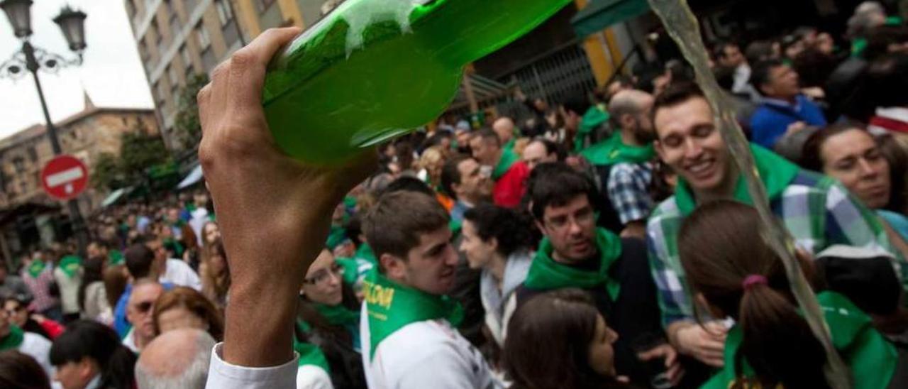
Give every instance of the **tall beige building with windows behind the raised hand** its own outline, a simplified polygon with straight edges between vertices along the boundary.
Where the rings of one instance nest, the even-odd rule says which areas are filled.
[[[164,142],[173,133],[179,92],[271,26],[305,27],[338,0],[123,0],[133,27]],[[327,5],[326,5],[327,3]],[[307,24],[307,22],[309,22]]]

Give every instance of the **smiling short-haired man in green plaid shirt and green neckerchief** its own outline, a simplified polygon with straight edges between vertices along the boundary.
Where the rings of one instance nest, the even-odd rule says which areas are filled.
[[[713,112],[696,85],[676,85],[659,95],[654,124],[656,152],[679,177],[675,195],[656,207],[646,225],[663,325],[679,353],[721,366],[725,325],[706,323],[706,330],[696,324],[678,258],[677,233],[696,204],[729,197],[745,204],[752,201],[716,129]],[[752,152],[770,206],[795,237],[798,248],[817,253],[833,244],[846,244],[895,253],[876,216],[844,187],[829,177],[801,170],[759,146],[752,146]],[[754,238],[759,238],[756,231]],[[904,285],[905,268],[898,261],[893,261],[893,266]]]

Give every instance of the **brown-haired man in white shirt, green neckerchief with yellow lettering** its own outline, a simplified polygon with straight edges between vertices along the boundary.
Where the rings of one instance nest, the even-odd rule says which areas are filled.
[[[379,271],[364,283],[362,362],[370,388],[490,388],[489,366],[456,330],[458,255],[449,216],[426,194],[381,196],[364,220]]]

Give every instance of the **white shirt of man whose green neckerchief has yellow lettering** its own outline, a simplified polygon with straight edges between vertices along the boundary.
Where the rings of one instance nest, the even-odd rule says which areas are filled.
[[[390,334],[370,358],[369,316],[360,311],[362,363],[371,389],[494,388],[498,384],[479,350],[447,320],[404,325]]]

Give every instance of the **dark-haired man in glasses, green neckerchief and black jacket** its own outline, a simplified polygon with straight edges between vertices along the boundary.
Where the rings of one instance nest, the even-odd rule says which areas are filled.
[[[632,382],[649,384],[652,374],[642,361],[665,360],[672,384],[683,375],[675,350],[657,345],[640,355],[630,344],[644,336],[662,336],[656,286],[649,276],[646,247],[636,238],[622,239],[597,228],[596,186],[566,164],[539,165],[528,185],[530,211],[545,238],[538,246],[527,280],[518,288],[516,304],[536,294],[563,288],[586,290],[609,327],[618,334],[615,365]],[[510,312],[505,316],[509,317]]]

